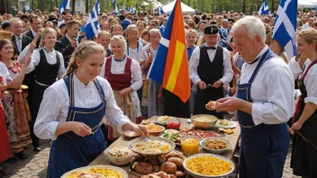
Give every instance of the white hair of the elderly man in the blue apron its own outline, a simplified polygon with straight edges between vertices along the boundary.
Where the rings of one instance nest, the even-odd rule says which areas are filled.
[[[261,41],[265,43],[267,39],[266,28],[258,17],[245,16],[233,24],[231,31],[237,31],[242,26],[246,27],[249,38],[254,39],[258,35]]]

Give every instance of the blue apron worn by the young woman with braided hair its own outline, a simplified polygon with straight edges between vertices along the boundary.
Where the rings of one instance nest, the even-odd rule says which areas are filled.
[[[80,137],[73,131],[59,135],[53,141],[50,148],[50,161],[48,177],[59,178],[62,174],[78,167],[89,165],[105,149],[105,140],[99,123],[104,118],[105,99],[104,91],[97,80],[95,87],[102,99],[102,102],[95,108],[75,107],[73,74],[64,79],[68,87],[69,109],[66,121],[84,122],[94,134]]]

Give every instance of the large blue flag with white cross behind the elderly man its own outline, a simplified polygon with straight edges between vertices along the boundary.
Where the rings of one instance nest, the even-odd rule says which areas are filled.
[[[281,0],[273,30],[273,40],[284,49],[287,58],[293,58],[296,51],[297,0]]]

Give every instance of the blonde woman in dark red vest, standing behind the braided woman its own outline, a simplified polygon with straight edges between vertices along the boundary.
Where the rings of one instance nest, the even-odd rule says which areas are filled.
[[[136,91],[142,85],[140,65],[135,59],[124,54],[127,45],[122,36],[113,36],[110,40],[110,46],[113,56],[105,58],[100,76],[106,78],[110,83],[114,99],[124,115],[135,123],[135,106],[139,104]],[[120,136],[121,134],[118,133],[117,129],[110,127],[107,145],[109,146]]]

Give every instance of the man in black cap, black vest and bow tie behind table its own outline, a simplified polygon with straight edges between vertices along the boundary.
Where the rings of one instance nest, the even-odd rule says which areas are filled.
[[[217,26],[204,28],[206,42],[194,49],[189,60],[189,76],[197,85],[194,114],[211,114],[222,119],[222,112],[205,109],[207,102],[223,97],[222,85],[229,84],[233,77],[229,52],[217,45],[218,38]]]

